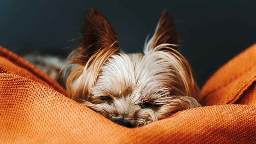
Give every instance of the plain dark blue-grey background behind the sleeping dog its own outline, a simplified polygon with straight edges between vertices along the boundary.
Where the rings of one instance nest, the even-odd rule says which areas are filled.
[[[181,53],[191,63],[199,86],[246,47],[256,42],[256,1],[88,1],[1,0],[0,45],[19,53],[76,45],[89,7],[99,9],[116,29],[121,48],[142,52],[164,8],[175,19],[183,40]]]

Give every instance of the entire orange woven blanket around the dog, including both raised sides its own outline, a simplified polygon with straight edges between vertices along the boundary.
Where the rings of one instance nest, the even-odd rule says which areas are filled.
[[[59,84],[0,47],[0,143],[255,143],[255,66],[256,44],[206,82],[206,107],[126,128],[70,100]]]

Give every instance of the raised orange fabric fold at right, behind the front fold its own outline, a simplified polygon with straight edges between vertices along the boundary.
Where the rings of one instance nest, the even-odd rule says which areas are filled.
[[[204,84],[201,104],[256,105],[256,44],[229,60]],[[247,92],[250,91],[250,92]]]

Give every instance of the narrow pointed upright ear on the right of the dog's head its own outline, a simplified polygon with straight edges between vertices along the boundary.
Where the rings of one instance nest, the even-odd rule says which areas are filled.
[[[168,12],[164,10],[162,16],[156,26],[153,37],[149,40],[148,45],[145,47],[146,51],[154,49],[160,44],[172,44],[174,49],[180,42],[178,32],[176,30],[173,19],[169,16]]]

